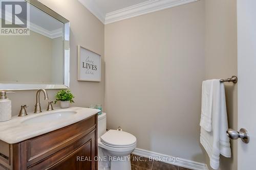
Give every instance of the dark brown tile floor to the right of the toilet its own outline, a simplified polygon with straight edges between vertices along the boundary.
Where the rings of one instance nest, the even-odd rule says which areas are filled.
[[[191,170],[176,165],[149,160],[148,158],[132,155],[131,158],[132,170]]]

